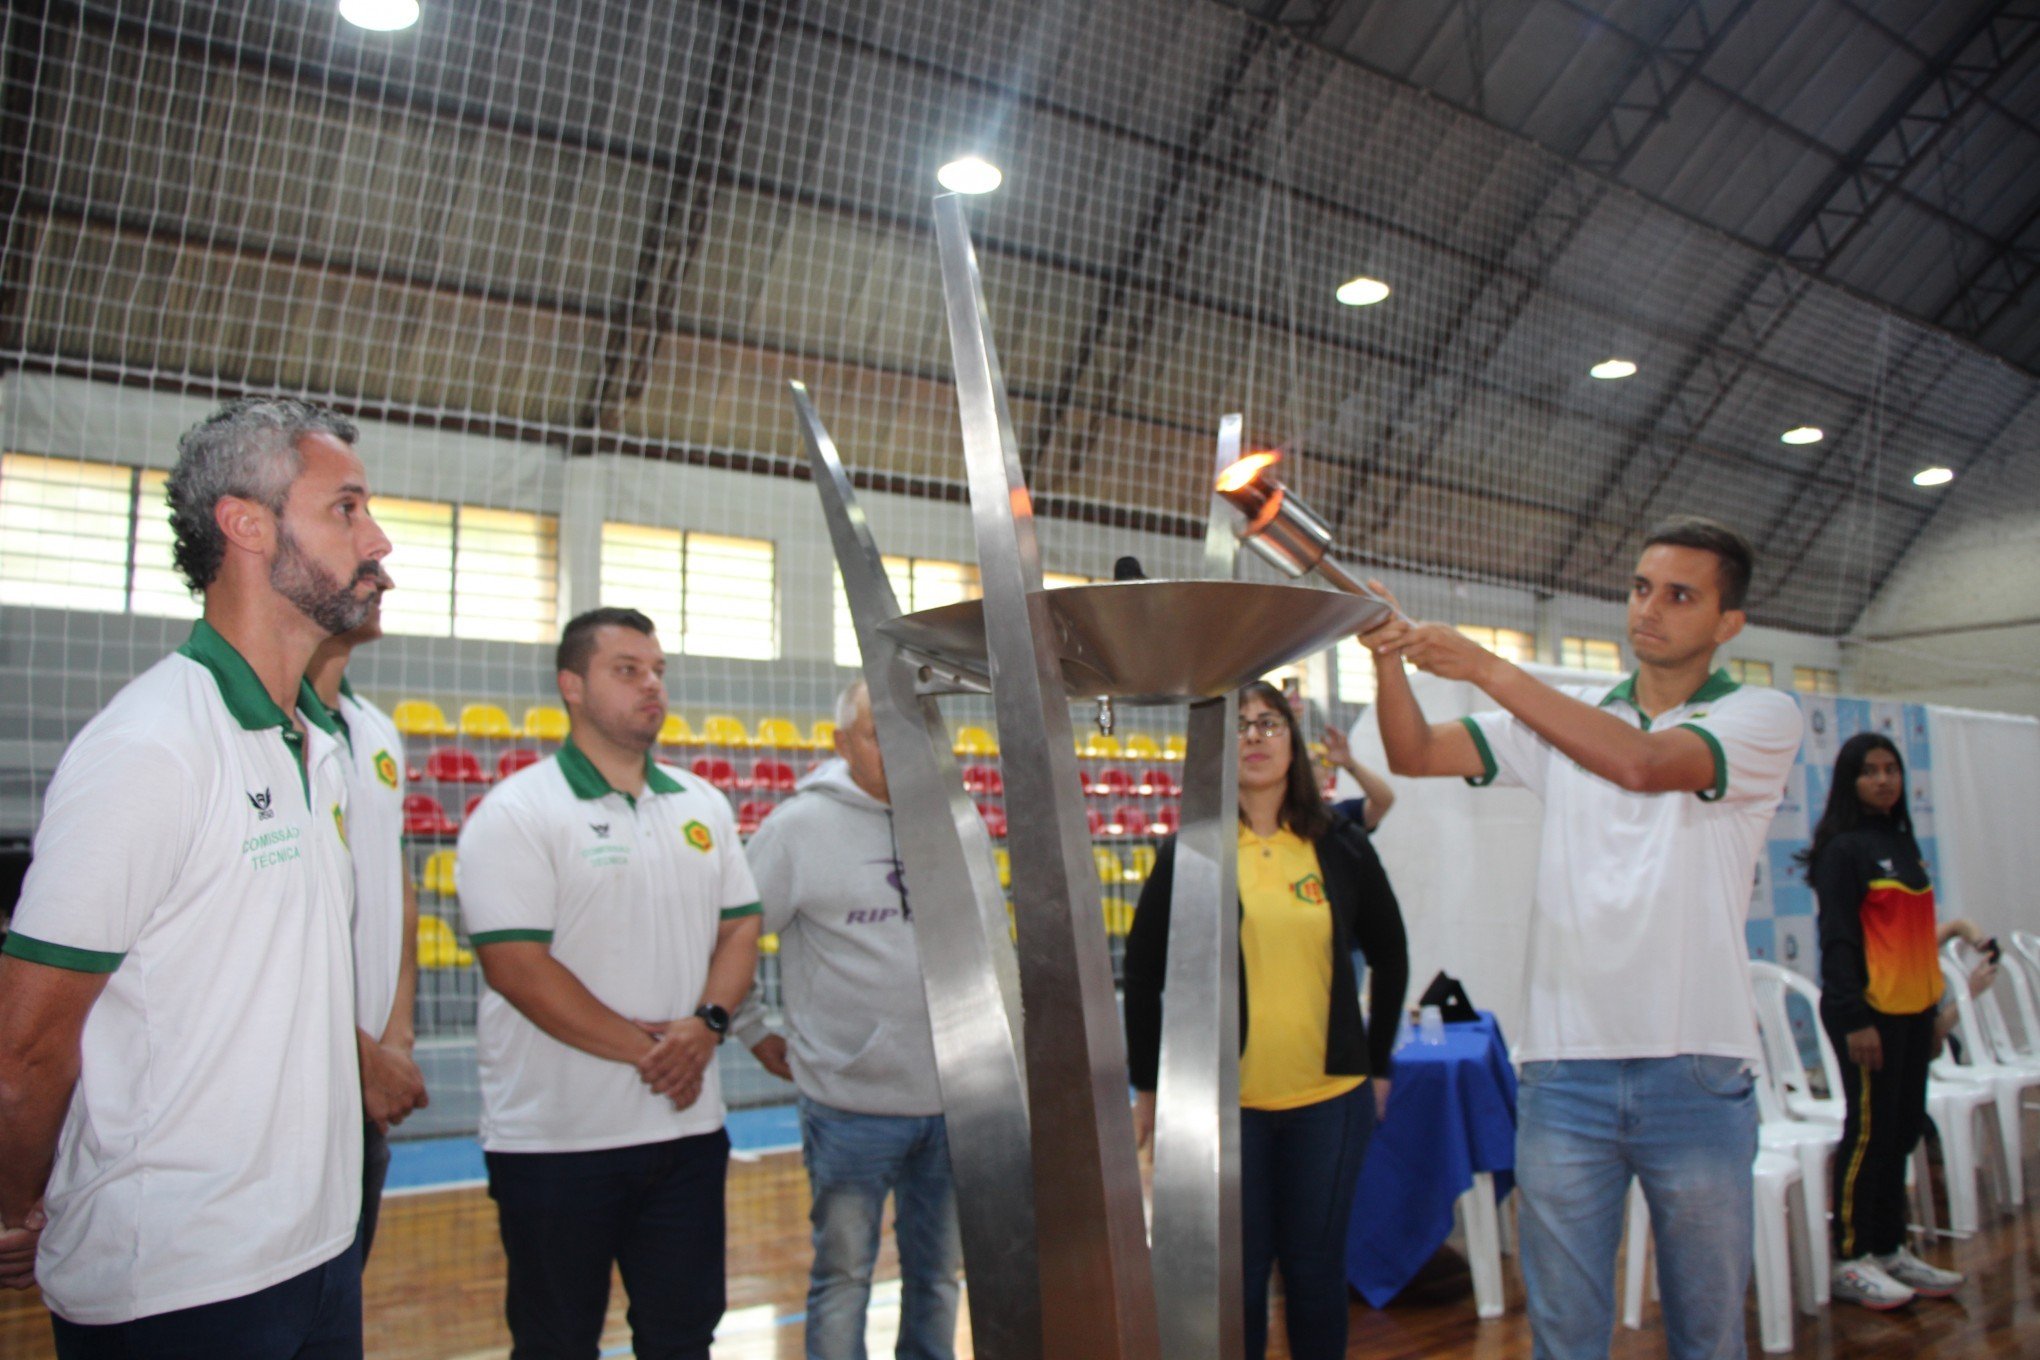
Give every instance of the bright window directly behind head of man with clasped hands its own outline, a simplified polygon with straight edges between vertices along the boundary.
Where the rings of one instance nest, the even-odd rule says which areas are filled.
[[[643,610],[685,657],[779,657],[777,548],[651,524],[602,524],[602,601]]]

